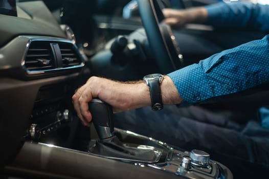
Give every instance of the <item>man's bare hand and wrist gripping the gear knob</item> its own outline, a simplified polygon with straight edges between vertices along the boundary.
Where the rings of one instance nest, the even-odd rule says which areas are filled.
[[[165,76],[161,83],[164,104],[182,101],[173,81]],[[119,82],[105,78],[91,77],[73,95],[73,104],[79,119],[85,126],[92,120],[88,102],[99,98],[110,104],[114,112],[149,106],[151,104],[149,87],[144,81]]]

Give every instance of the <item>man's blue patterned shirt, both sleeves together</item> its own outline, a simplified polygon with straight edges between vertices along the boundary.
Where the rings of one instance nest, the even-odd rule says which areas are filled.
[[[269,6],[219,3],[207,6],[207,24],[269,32]],[[184,105],[214,100],[269,82],[269,35],[168,74]],[[269,127],[269,126],[268,126]]]

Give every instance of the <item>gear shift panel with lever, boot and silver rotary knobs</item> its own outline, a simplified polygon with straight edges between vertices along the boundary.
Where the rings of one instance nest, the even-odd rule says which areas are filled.
[[[233,178],[220,163],[201,150],[184,151],[130,131],[114,129],[111,106],[100,99],[89,102],[100,140],[92,140],[88,152],[111,160],[162,170],[187,178]]]

